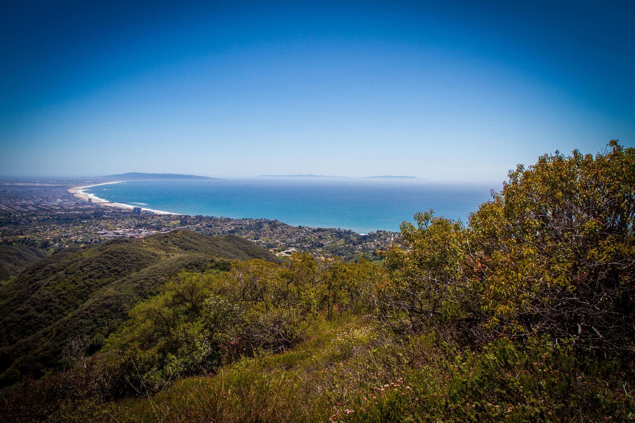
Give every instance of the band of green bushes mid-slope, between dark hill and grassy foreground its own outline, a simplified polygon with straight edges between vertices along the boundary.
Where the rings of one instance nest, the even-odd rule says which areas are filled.
[[[366,261],[316,263],[307,254],[282,265],[234,261],[227,273],[184,271],[131,309],[104,351],[121,356],[126,385],[156,390],[224,360],[297,345],[318,316],[358,312],[363,287],[380,274]]]

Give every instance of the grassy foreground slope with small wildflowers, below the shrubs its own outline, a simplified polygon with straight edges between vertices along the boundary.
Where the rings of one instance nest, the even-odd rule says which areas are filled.
[[[397,339],[359,317],[312,323],[311,338],[218,374],[117,403],[117,421],[624,421],[635,402],[614,361],[535,339],[460,349],[438,335]]]

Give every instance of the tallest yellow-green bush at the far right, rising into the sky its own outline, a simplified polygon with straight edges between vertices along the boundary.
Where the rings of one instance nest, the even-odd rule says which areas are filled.
[[[486,328],[632,351],[634,197],[635,149],[617,141],[511,172],[470,221]]]

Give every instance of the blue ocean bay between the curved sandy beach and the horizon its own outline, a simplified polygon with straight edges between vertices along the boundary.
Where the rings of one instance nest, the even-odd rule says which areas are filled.
[[[493,185],[382,178],[255,178],[129,181],[84,190],[112,202],[179,214],[277,219],[297,226],[399,230],[418,211],[467,221]]]

